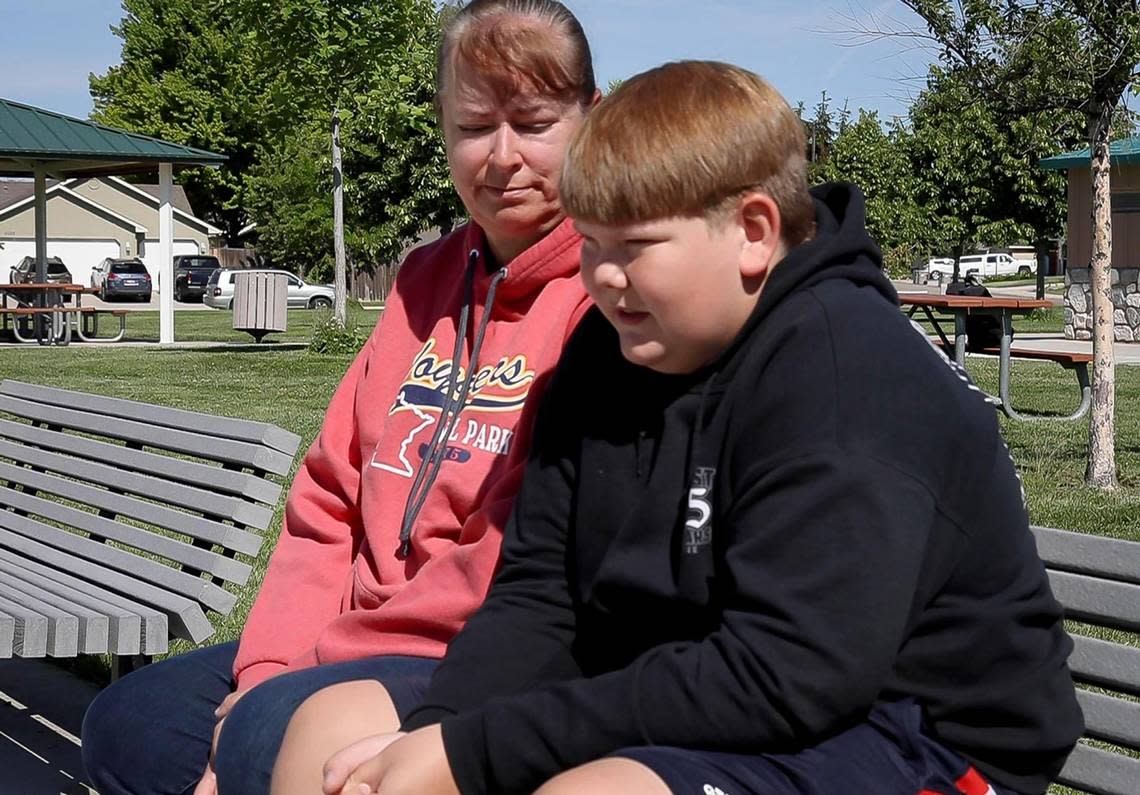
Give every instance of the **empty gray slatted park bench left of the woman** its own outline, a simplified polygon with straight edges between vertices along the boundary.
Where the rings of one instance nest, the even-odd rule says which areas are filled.
[[[0,657],[113,656],[213,634],[301,439],[263,422],[0,383]]]

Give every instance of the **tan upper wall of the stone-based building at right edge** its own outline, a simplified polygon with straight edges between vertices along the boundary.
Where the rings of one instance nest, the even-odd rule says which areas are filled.
[[[1089,169],[1069,169],[1068,267],[1092,260],[1092,181]],[[1140,193],[1140,165],[1114,165],[1112,190]],[[1113,267],[1140,268],[1140,212],[1113,213]]]

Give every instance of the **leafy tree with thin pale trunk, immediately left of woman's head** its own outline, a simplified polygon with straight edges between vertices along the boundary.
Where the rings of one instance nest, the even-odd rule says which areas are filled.
[[[332,63],[307,54],[299,42],[324,34],[314,30],[311,19],[292,18],[299,13],[296,3],[253,2],[243,9],[251,18],[280,14],[259,23],[259,35],[277,36],[276,43],[259,46],[266,68],[276,64],[279,70],[267,113],[279,119],[282,129],[259,148],[259,163],[247,179],[259,246],[302,273],[335,279],[341,241],[342,285],[349,261],[353,269],[386,265],[423,229],[449,229],[463,212],[450,185],[433,105],[438,27],[431,14],[421,14],[431,9],[422,2],[405,3],[404,17],[381,19],[373,3],[357,5],[368,6],[365,17],[345,22],[336,16],[344,13],[339,8],[333,22],[345,35],[355,31],[352,35],[370,40],[358,42],[364,54],[356,64],[358,74],[327,96],[317,89],[347,68],[349,56],[336,52],[342,44],[328,46],[323,57],[335,56]],[[393,31],[397,24],[404,25],[402,33]],[[317,76],[306,76],[310,71]],[[328,106],[329,98],[337,97],[339,106]],[[334,168],[334,152],[341,153],[340,168]],[[335,230],[337,176],[343,192],[341,234]]]

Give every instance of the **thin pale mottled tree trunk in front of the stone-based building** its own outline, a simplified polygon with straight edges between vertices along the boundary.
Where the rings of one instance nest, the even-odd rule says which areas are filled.
[[[1108,133],[1113,104],[1100,103],[1089,119],[1092,148],[1092,419],[1089,422],[1090,486],[1116,488],[1116,359],[1113,352],[1113,212],[1109,193]]]

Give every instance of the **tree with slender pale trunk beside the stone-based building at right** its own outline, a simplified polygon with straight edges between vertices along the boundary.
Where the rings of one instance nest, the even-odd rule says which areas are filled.
[[[1116,488],[1108,144],[1140,64],[1140,0],[903,0],[943,58],[1004,114],[1083,114],[1092,168],[1092,419],[1085,482]]]

